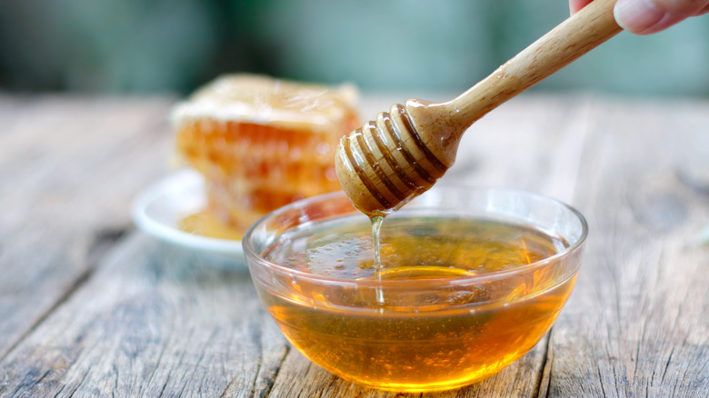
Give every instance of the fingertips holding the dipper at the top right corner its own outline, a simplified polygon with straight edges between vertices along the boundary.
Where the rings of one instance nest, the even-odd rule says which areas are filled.
[[[569,0],[571,14],[593,0]],[[709,0],[618,0],[614,16],[618,25],[637,35],[664,30],[690,16],[709,13]]]

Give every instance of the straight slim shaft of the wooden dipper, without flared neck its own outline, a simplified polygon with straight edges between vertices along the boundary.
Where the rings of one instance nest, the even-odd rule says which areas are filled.
[[[514,95],[539,83],[622,29],[615,22],[615,0],[594,0],[507,61],[449,106],[465,128]]]

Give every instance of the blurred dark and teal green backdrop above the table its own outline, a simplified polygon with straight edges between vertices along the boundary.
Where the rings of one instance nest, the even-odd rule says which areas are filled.
[[[462,92],[567,16],[566,0],[10,0],[0,90],[187,94],[257,72]],[[709,16],[619,35],[534,89],[709,96]]]

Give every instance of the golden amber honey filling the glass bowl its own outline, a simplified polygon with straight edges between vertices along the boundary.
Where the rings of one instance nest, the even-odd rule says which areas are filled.
[[[387,217],[378,273],[361,218],[284,234],[263,256],[298,273],[274,281],[279,289],[257,284],[288,340],[354,383],[432,391],[484,379],[541,339],[574,285],[554,262],[526,266],[565,250],[564,240],[444,216]],[[495,276],[506,272],[518,275]]]

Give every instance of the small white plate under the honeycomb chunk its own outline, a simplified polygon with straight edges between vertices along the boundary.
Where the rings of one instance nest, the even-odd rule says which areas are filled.
[[[170,174],[139,194],[133,203],[133,221],[147,234],[201,255],[200,260],[220,266],[245,267],[241,241],[190,234],[177,224],[205,209],[205,180],[193,170]]]

